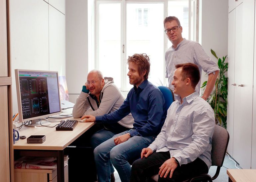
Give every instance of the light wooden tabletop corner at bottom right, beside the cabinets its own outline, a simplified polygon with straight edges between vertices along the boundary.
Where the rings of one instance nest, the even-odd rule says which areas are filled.
[[[256,181],[256,169],[227,169],[227,175],[233,182]]]

